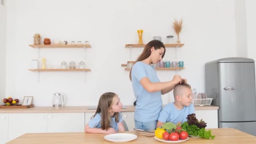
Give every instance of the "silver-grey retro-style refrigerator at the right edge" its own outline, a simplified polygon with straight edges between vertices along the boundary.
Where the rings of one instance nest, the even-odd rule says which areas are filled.
[[[219,106],[219,128],[236,128],[256,136],[253,59],[224,58],[205,64],[205,92]]]

